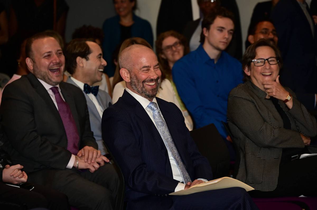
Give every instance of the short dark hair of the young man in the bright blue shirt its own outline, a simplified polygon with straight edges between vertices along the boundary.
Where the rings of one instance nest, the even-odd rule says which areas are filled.
[[[235,22],[235,18],[232,12],[225,9],[224,7],[217,7],[211,10],[211,12],[204,17],[204,20],[201,23],[201,34],[200,34],[200,42],[204,43],[205,41],[205,35],[204,35],[204,28],[207,28],[207,30],[210,29],[210,25],[212,25],[217,17],[226,17],[232,20],[232,22]]]

